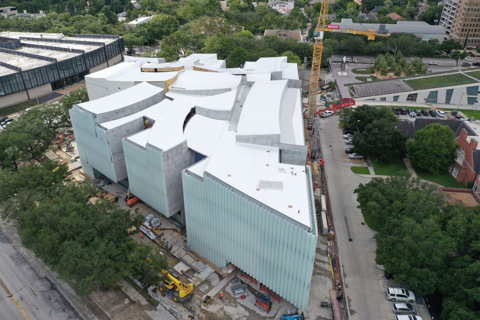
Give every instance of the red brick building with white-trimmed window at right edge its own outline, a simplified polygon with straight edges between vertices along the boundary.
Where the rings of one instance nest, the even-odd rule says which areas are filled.
[[[450,174],[465,186],[468,182],[476,180],[477,172],[480,170],[480,149],[477,139],[477,136],[468,135],[465,129],[462,129],[456,138],[459,147]]]

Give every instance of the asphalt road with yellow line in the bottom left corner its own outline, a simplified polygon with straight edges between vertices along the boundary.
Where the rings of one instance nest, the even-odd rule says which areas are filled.
[[[48,278],[32,269],[1,228],[0,266],[0,287],[6,289],[0,290],[0,320],[82,319]]]

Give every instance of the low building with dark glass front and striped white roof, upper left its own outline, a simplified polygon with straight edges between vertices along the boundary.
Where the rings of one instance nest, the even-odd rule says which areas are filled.
[[[123,38],[0,32],[0,107],[35,99],[122,61]]]

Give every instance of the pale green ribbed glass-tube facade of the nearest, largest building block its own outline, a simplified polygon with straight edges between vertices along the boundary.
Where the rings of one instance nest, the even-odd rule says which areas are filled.
[[[311,186],[310,168],[306,167]],[[231,262],[298,308],[308,305],[316,220],[307,227],[216,177],[182,171],[189,245],[218,267]],[[313,191],[310,190],[311,215]]]

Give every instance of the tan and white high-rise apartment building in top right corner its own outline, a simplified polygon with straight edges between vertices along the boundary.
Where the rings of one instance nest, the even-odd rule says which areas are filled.
[[[454,39],[467,47],[480,46],[480,0],[447,0],[440,18],[445,40]]]

